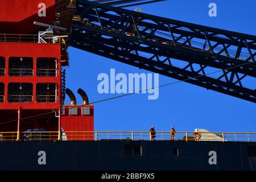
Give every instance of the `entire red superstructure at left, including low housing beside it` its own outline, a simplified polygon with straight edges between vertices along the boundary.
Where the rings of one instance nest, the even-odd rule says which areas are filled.
[[[38,15],[42,3],[45,17]],[[63,105],[61,67],[68,65],[65,40],[53,35],[57,32],[50,26],[46,30],[33,24],[55,22],[56,8],[54,0],[0,2],[0,123],[5,122],[0,131],[18,131],[17,140],[23,139],[20,133],[27,129],[57,131],[59,135],[52,139],[60,139],[61,130],[94,130],[93,106],[88,101],[82,106]],[[39,34],[24,35],[33,32]]]

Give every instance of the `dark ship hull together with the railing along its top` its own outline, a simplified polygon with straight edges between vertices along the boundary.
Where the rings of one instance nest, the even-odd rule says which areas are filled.
[[[0,170],[256,170],[256,133],[197,131],[0,133]]]

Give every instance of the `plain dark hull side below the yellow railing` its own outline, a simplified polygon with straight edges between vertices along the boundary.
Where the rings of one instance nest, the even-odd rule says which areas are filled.
[[[141,145],[142,156],[127,155],[127,144]],[[256,170],[255,147],[247,142],[3,142],[0,170]],[[39,165],[39,151],[46,152],[46,164]],[[217,164],[209,164],[210,151],[216,151]]]

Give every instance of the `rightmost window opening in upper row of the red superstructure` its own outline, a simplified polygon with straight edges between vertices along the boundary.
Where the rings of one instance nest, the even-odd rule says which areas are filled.
[[[56,77],[58,75],[57,59],[54,57],[38,57],[36,59],[36,75]]]

